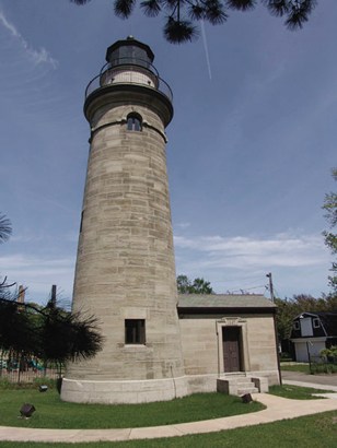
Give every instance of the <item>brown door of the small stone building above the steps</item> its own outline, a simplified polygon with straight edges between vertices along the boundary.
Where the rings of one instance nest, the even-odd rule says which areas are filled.
[[[223,370],[240,372],[240,328],[222,328]]]

